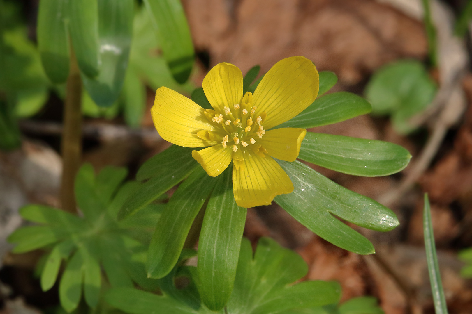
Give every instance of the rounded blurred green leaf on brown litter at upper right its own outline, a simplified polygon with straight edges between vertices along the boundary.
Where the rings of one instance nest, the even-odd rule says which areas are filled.
[[[395,130],[408,134],[414,130],[409,119],[423,111],[436,93],[423,64],[401,60],[380,68],[371,78],[365,94],[372,114],[391,114]]]

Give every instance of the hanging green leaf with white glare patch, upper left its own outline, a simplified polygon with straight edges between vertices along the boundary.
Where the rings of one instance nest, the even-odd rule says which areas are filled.
[[[90,97],[101,107],[113,105],[123,86],[133,32],[133,15],[133,0],[98,0],[99,73],[91,78],[82,75],[82,80]]]

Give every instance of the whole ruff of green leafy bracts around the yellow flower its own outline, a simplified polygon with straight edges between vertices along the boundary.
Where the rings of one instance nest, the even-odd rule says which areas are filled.
[[[255,89],[258,67],[244,77],[244,89]],[[368,113],[370,104],[351,93],[323,96],[337,81],[332,72],[320,73],[320,97],[286,127],[326,125]],[[192,99],[209,106],[202,89]],[[196,275],[206,307],[219,311],[234,291],[236,265],[246,209],[236,205],[231,166],[218,177],[209,177],[192,158],[192,148],[170,146],[138,170],[139,187],[123,204],[119,218],[132,217],[172,186],[180,184],[162,213],[148,250],[148,276],[163,278],[176,265],[195,217],[202,211],[200,253]],[[308,132],[299,158],[336,171],[358,176],[386,176],[408,164],[411,155],[403,147],[360,138]],[[374,253],[369,240],[347,222],[377,231],[398,225],[396,215],[385,206],[337,185],[305,164],[278,161],[294,184],[294,192],[275,198],[282,208],[323,239],[359,254]],[[204,213],[203,213],[204,211]],[[215,291],[220,297],[215,299]]]

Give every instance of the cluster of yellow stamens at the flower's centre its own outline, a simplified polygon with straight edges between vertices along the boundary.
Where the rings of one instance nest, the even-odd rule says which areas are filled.
[[[235,159],[239,159],[238,156],[242,157],[241,154],[249,149],[265,157],[264,153],[267,153],[267,151],[257,141],[266,132],[262,126],[266,114],[258,113],[256,116],[256,110],[257,107],[253,106],[253,94],[251,92],[244,95],[241,104],[224,107],[222,113],[205,109],[205,116],[215,125],[217,131],[202,130],[197,132],[197,136],[221,143],[223,148],[231,147]]]

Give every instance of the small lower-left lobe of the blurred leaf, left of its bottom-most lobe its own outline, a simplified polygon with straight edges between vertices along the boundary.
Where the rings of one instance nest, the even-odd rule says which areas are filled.
[[[69,257],[70,252],[75,248],[72,240],[56,244],[48,255],[41,273],[41,289],[47,291],[52,288],[59,274],[61,261]]]

